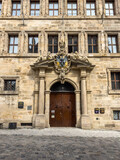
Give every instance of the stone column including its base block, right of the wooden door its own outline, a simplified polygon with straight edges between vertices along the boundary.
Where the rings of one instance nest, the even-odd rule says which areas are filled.
[[[82,105],[81,128],[91,129],[91,121],[88,115],[88,107],[87,107],[86,69],[81,70],[81,105]]]

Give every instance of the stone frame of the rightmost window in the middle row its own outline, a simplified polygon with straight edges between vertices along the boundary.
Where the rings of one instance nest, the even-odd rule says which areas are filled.
[[[117,53],[109,53],[109,49],[108,49],[108,36],[117,36]],[[116,54],[120,54],[120,32],[114,32],[114,31],[106,31],[106,47],[107,47],[107,53],[109,55],[116,55]]]

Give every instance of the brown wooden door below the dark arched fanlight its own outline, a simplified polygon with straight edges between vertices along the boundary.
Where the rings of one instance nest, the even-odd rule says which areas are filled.
[[[76,107],[74,93],[51,93],[50,126],[75,127]]]

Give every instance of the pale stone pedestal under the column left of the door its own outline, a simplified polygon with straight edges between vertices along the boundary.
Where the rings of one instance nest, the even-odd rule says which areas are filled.
[[[33,127],[38,129],[45,128],[45,115],[36,114],[33,116]]]

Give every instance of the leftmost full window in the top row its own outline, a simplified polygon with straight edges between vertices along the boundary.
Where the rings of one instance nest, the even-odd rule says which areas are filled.
[[[20,1],[12,2],[12,16],[20,16]]]

